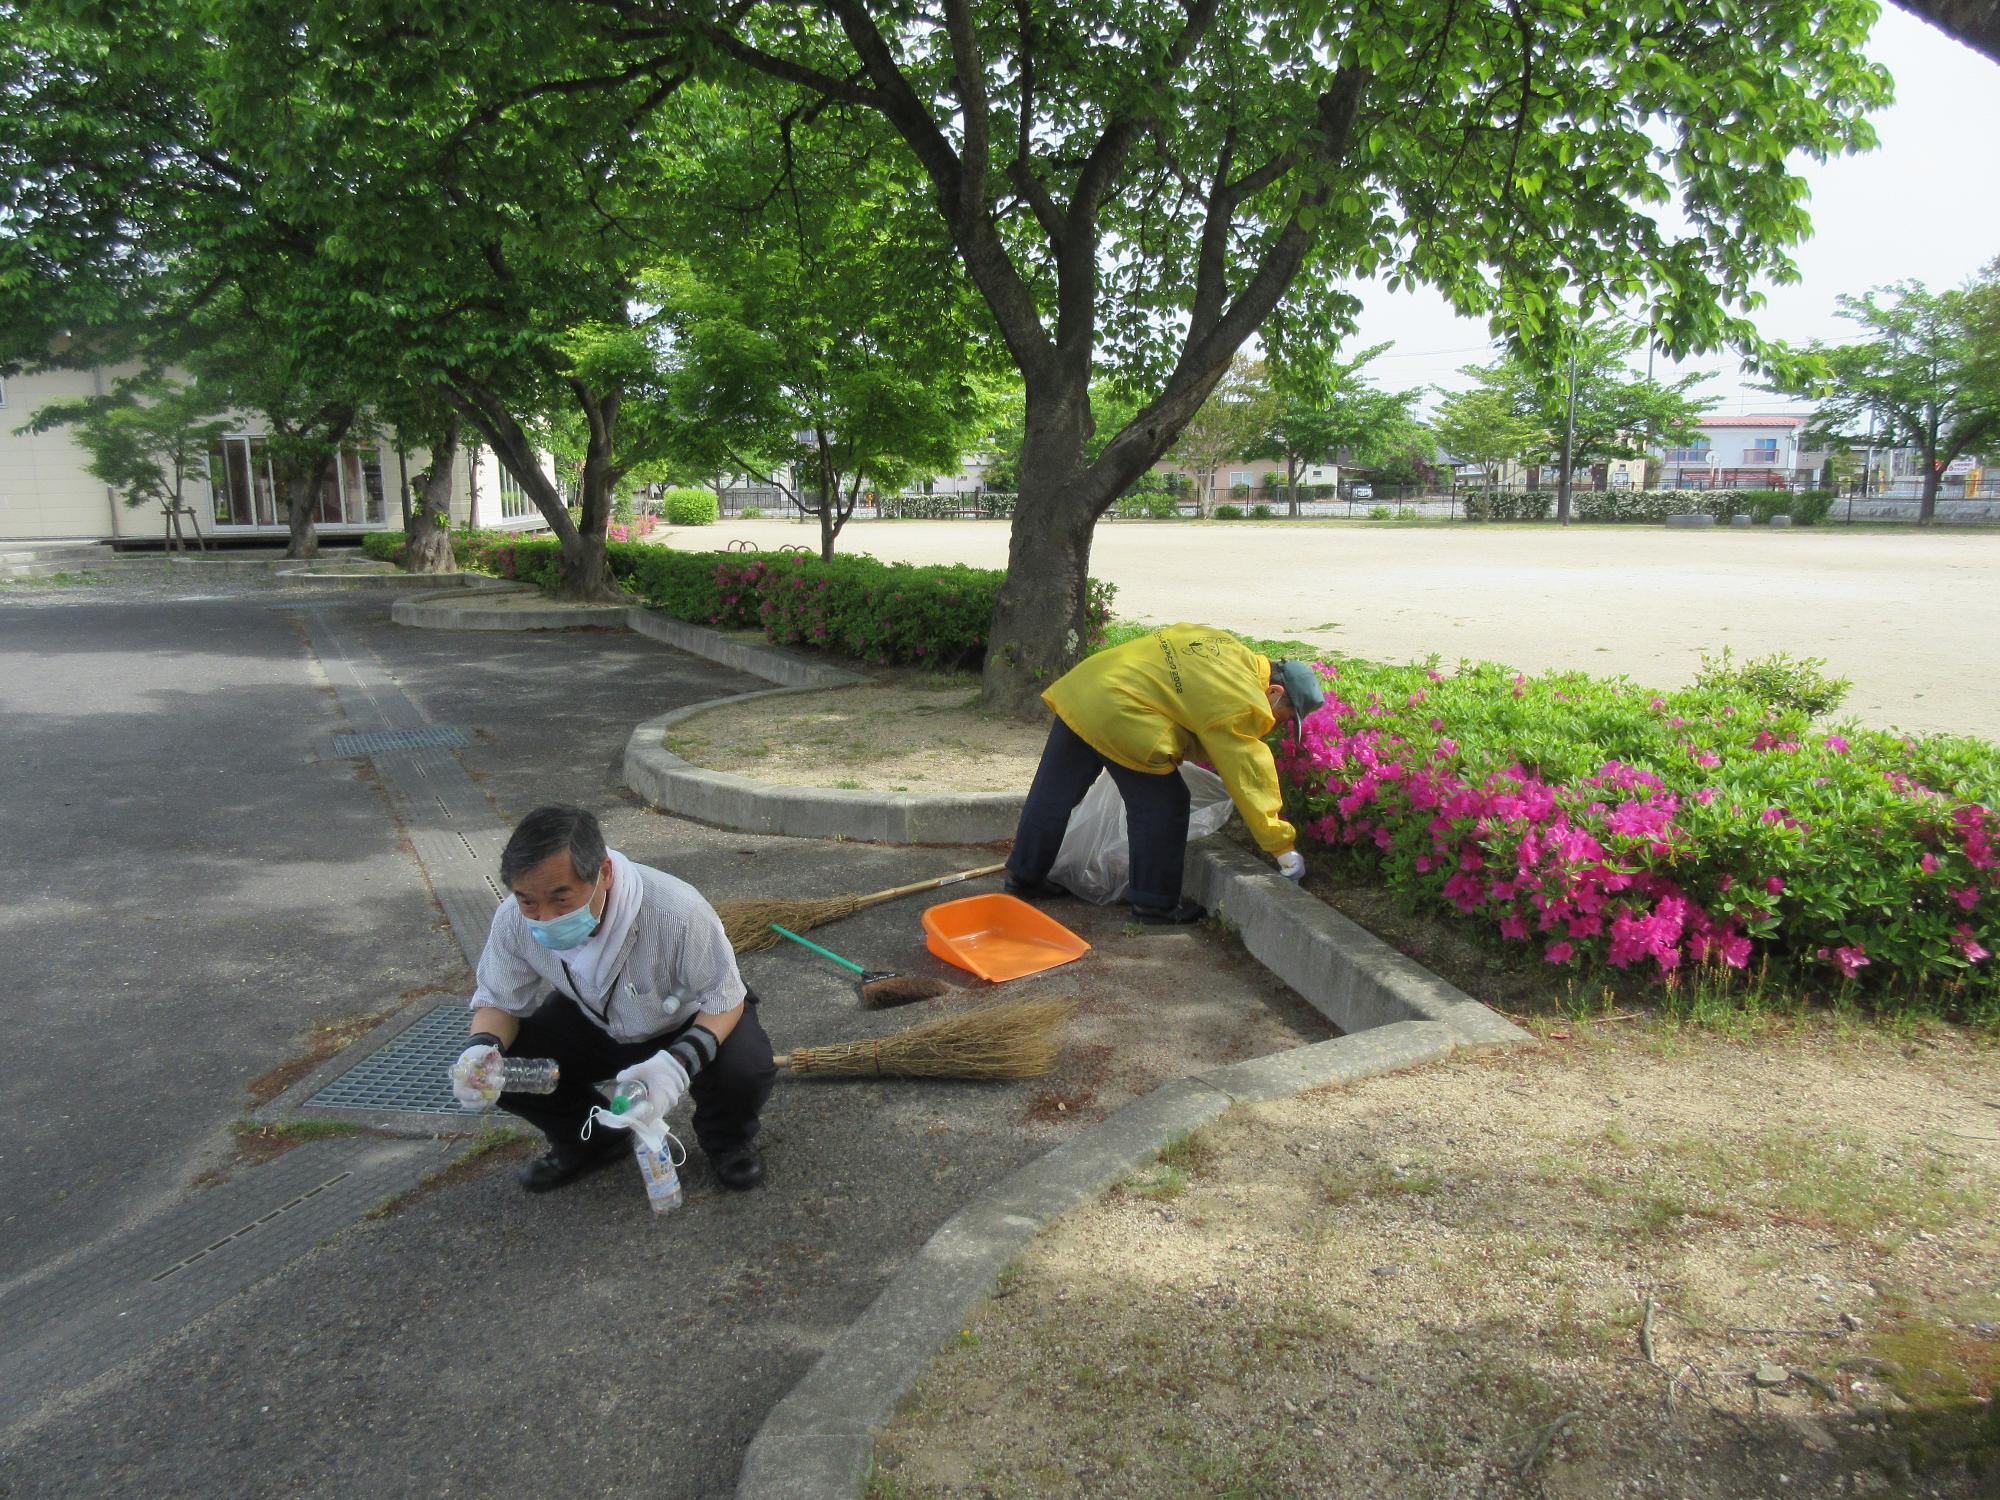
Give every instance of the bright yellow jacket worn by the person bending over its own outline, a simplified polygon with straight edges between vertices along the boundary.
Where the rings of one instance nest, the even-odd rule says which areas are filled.
[[[1284,820],[1278,766],[1264,736],[1270,660],[1226,630],[1160,626],[1086,656],[1042,694],[1056,718],[1106,760],[1164,774],[1196,752],[1230,788],[1258,848],[1284,854],[1296,842]]]

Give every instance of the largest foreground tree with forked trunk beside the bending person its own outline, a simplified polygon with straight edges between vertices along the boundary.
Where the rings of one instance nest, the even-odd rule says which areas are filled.
[[[1286,298],[1388,274],[1532,338],[1558,300],[1642,296],[1674,354],[1750,344],[1752,286],[1808,230],[1788,156],[1872,144],[1860,116],[1888,96],[1860,54],[1870,0],[582,14],[626,70],[752,70],[878,112],[922,164],[1026,390],[986,660],[988,700],[1024,712],[1082,650],[1096,518]],[[1686,228],[1656,218],[1668,202]],[[1086,460],[1112,368],[1148,400]]]

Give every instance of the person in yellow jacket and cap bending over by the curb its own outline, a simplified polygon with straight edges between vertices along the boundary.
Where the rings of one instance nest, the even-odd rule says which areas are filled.
[[[1132,862],[1126,898],[1134,914],[1154,924],[1200,920],[1200,904],[1180,896],[1188,848],[1188,784],[1180,762],[1188,758],[1216,768],[1250,834],[1278,858],[1284,876],[1304,874],[1264,736],[1280,720],[1304,722],[1326,702],[1306,662],[1274,662],[1226,630],[1170,624],[1086,656],[1042,702],[1056,722],[1006,862],[1006,888],[1016,896],[1064,894],[1048,872],[1070,812],[1106,770],[1126,806]]]

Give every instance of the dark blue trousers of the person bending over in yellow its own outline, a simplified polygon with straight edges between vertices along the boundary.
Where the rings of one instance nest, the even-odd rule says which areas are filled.
[[[1156,910],[1178,906],[1180,866],[1188,856],[1188,784],[1178,770],[1156,776],[1106,760],[1060,718],[1048,730],[1042,764],[1034,768],[1006,872],[1030,886],[1048,878],[1062,848],[1062,830],[1100,770],[1112,774],[1126,804],[1132,848],[1132,888],[1126,900]]]

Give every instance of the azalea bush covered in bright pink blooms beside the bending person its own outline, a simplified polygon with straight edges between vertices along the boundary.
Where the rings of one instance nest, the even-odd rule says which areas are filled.
[[[1308,842],[1548,964],[1758,970],[2000,1020],[2000,748],[1734,688],[1320,664],[1278,764]]]

